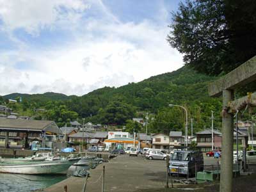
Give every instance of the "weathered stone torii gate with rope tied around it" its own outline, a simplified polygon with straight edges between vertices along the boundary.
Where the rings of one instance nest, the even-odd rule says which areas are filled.
[[[232,192],[233,179],[233,140],[234,122],[233,113],[237,109],[245,108],[238,105],[234,99],[234,90],[245,84],[256,81],[256,56],[243,63],[232,72],[221,77],[209,85],[209,95],[211,97],[223,97],[222,115],[222,143],[221,143],[221,173],[220,192]],[[244,104],[246,100],[239,100],[239,104]]]

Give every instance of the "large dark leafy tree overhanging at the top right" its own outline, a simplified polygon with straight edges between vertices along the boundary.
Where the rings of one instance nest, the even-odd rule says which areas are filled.
[[[188,0],[173,13],[167,40],[198,72],[230,72],[256,54],[255,8],[252,0]]]

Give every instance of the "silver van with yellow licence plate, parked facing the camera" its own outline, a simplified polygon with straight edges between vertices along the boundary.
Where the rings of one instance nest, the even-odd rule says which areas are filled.
[[[196,170],[195,170],[196,168]],[[169,173],[180,175],[195,175],[204,170],[204,156],[200,151],[177,151],[169,161]]]

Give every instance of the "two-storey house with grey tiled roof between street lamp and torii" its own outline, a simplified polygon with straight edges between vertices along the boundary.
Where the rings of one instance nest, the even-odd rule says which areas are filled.
[[[221,148],[221,132],[213,130],[213,146],[214,149]],[[212,150],[212,129],[196,132],[196,147],[202,152]]]

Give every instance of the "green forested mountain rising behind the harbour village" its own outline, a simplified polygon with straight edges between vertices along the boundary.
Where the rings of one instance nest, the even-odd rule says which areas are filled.
[[[68,97],[59,93],[11,95],[22,97],[19,113],[32,111],[30,115],[35,118],[55,120],[59,125],[78,117],[98,124],[129,124],[128,127],[131,127],[131,122],[127,120],[132,117],[145,118],[146,113],[149,113],[149,129],[152,132],[183,129],[184,111],[168,107],[168,104],[178,104],[188,109],[189,119],[194,119],[194,127],[199,130],[211,125],[211,111],[218,112],[221,109],[220,99],[210,98],[207,93],[207,85],[214,79],[198,74],[189,67],[182,67],[139,83],[129,83],[119,88],[100,88],[81,97]],[[4,98],[11,97],[5,95]],[[38,115],[33,112],[35,108],[47,111]],[[219,115],[215,125],[220,125]]]

